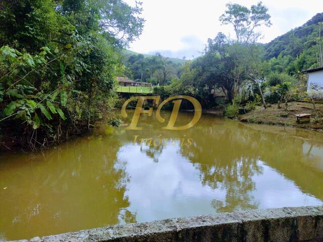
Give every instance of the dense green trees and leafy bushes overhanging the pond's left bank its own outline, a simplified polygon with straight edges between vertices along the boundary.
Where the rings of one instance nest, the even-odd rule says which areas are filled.
[[[4,0],[0,9],[3,140],[34,148],[91,128],[113,106],[117,48],[140,35],[140,3]]]

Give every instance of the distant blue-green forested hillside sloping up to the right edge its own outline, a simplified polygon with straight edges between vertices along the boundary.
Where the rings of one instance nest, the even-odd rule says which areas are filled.
[[[266,57],[277,58],[280,53],[282,56],[296,57],[304,50],[316,46],[319,22],[323,22],[323,13],[316,14],[302,26],[267,43],[265,45]]]

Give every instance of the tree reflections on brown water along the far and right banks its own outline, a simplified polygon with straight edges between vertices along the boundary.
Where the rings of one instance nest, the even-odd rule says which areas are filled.
[[[164,116],[167,116],[167,114]],[[144,117],[147,124],[137,132],[142,138],[163,138],[180,141],[183,135],[193,138],[193,145],[183,146],[180,152],[199,169],[203,185],[227,191],[221,206],[214,201],[217,210],[232,211],[240,208],[256,208],[252,197],[255,184],[252,176],[262,173],[258,160],[293,180],[303,193],[323,199],[323,176],[311,168],[312,159],[303,153],[306,141],[309,145],[323,146],[322,135],[298,129],[275,126],[245,125],[231,120],[203,117],[193,128],[185,131],[160,131],[160,124],[153,117]],[[179,113],[179,119],[190,120],[187,113]],[[168,120],[168,118],[165,118]],[[132,137],[129,137],[130,140]],[[160,149],[161,148],[161,149]],[[165,147],[150,147],[147,155],[158,157]]]

